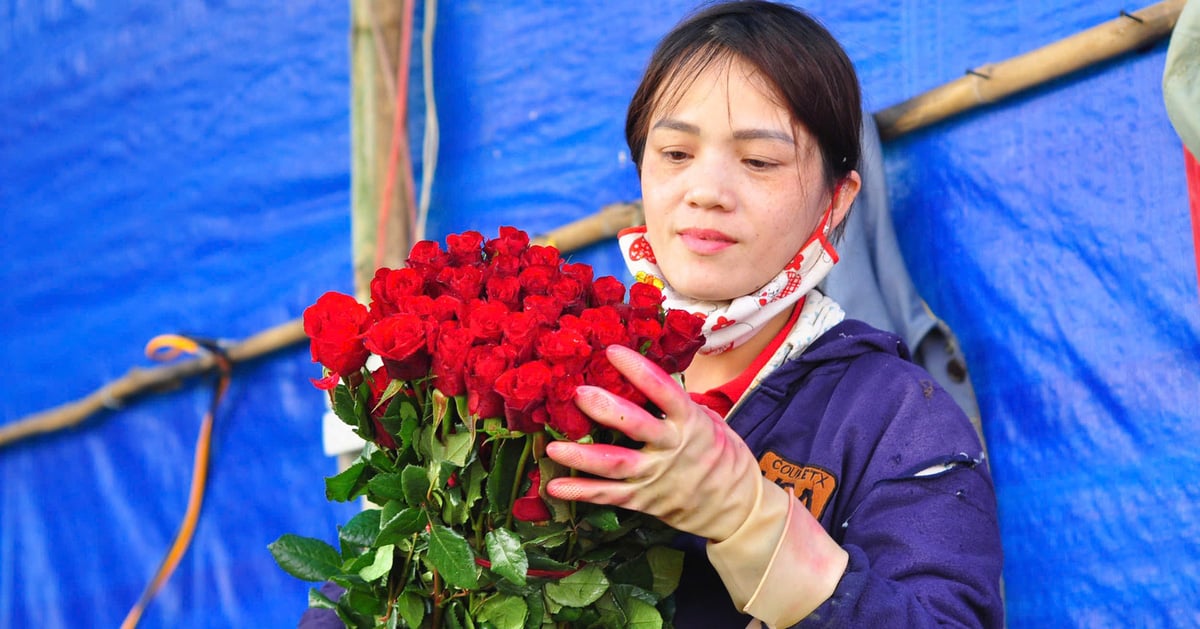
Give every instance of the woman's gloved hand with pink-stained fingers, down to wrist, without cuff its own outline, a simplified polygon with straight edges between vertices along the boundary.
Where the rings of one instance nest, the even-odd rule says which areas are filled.
[[[602,478],[557,478],[546,491],[642,511],[713,541],[727,539],[755,508],[763,481],[754,454],[725,420],[637,352],[612,346],[607,358],[665,418],[601,388],[580,387],[581,411],[644,447],[551,442],[551,459]]]

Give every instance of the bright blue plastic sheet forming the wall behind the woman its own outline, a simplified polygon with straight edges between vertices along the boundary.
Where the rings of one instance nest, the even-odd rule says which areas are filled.
[[[497,5],[439,6],[434,238],[637,198],[624,104],[692,2]],[[872,110],[1139,8],[806,6]],[[0,7],[0,423],[149,366],[156,334],[241,339],[350,289],[346,4]],[[884,146],[901,248],[983,412],[1010,627],[1200,624],[1200,295],[1164,49]],[[611,244],[575,257],[623,272]],[[144,627],[294,625],[307,585],[266,544],[332,541],[349,509],[323,497],[314,375],[304,347],[238,366],[196,539]],[[208,401],[190,381],[0,450],[0,624],[120,622]]]

